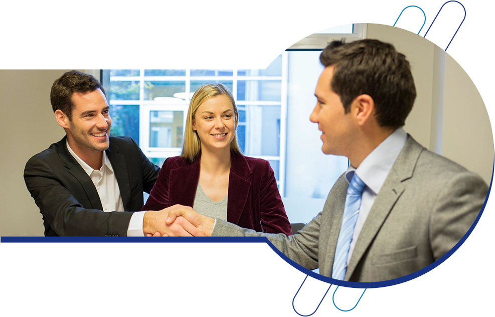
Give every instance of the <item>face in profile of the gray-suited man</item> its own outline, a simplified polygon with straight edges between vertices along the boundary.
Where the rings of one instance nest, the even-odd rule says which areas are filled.
[[[323,153],[348,156],[353,146],[353,111],[351,107],[351,112],[345,113],[341,98],[332,91],[330,83],[333,74],[334,67],[327,66],[319,76],[314,92],[317,102],[309,120],[318,123],[318,129],[322,132]]]

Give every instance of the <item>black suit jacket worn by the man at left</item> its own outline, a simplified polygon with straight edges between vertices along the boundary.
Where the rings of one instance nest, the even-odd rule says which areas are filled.
[[[90,177],[69,153],[65,136],[31,157],[24,181],[45,225],[45,236],[126,236],[132,212],[143,205],[158,177],[154,166],[130,137],[110,137],[106,150],[125,212],[102,212]]]

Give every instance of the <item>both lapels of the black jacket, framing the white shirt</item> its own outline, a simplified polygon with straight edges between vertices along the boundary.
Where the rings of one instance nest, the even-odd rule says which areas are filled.
[[[83,187],[86,195],[91,202],[93,209],[103,210],[101,206],[100,196],[96,191],[96,188],[91,181],[91,178],[84,172],[84,169],[77,163],[75,158],[69,153],[66,146],[67,135],[60,140],[58,144],[59,157],[62,164],[69,170],[69,173],[74,176],[81,186]],[[125,164],[124,155],[119,154],[119,148],[117,145],[112,143],[110,139],[110,146],[106,150],[106,155],[112,164],[113,173],[117,179],[118,187],[120,190],[120,196],[122,197],[122,203],[124,205],[124,210],[129,210],[130,203],[130,185],[129,177],[127,174],[127,166]]]

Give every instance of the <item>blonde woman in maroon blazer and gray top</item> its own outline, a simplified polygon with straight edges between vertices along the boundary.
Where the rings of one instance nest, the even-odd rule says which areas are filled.
[[[291,235],[270,164],[239,149],[238,120],[224,85],[200,87],[189,105],[182,154],[163,163],[142,210],[180,204],[243,228]]]

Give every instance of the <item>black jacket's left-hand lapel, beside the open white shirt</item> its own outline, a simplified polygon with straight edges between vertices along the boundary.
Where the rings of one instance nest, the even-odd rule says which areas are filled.
[[[103,210],[101,206],[100,196],[91,181],[91,178],[84,172],[83,168],[77,163],[76,159],[69,153],[67,149],[67,136],[59,142],[59,157],[62,164],[68,169],[68,172],[74,176],[81,184],[83,190],[89,198],[93,209]]]

